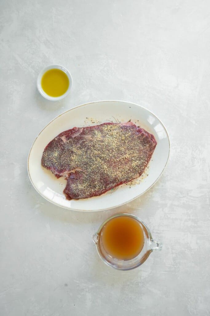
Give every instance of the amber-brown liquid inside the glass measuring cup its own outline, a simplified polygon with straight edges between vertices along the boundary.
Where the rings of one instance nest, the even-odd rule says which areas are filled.
[[[112,257],[129,260],[144,246],[144,232],[139,222],[129,216],[119,216],[107,222],[101,232],[105,251]]]

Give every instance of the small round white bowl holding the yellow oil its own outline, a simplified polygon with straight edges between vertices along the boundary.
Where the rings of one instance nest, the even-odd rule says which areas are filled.
[[[69,87],[67,89],[67,91],[60,95],[60,97],[51,97],[50,95],[46,94],[41,86],[41,80],[42,80],[42,76],[43,74],[50,70],[50,69],[60,69],[62,70],[69,78]],[[50,101],[59,101],[59,100],[62,100],[63,98],[65,98],[69,92],[70,92],[70,89],[72,87],[72,77],[71,77],[71,74],[70,72],[63,66],[61,65],[49,65],[47,67],[45,67],[42,71],[40,71],[39,75],[38,75],[38,78],[37,78],[37,89],[39,91],[39,93],[45,98],[45,99],[48,99]]]

